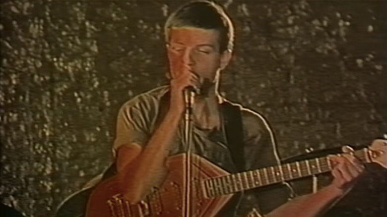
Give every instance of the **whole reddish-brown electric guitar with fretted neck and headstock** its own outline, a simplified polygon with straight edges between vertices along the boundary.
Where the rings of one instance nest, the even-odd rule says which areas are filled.
[[[386,165],[386,140],[353,152],[363,163]],[[240,191],[281,183],[287,180],[328,172],[328,157],[286,163],[257,170],[230,174],[209,161],[191,155],[192,166],[190,217],[214,217]],[[168,158],[168,174],[162,185],[146,199],[131,204],[122,198],[116,176],[96,186],[86,207],[86,217],[186,217],[183,213],[183,165],[186,154]]]

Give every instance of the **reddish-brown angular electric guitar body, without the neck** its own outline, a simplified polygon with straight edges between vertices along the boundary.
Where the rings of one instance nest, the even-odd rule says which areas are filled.
[[[116,176],[96,186],[91,193],[86,217],[187,217],[184,210],[184,163],[186,155],[170,157],[168,173],[162,185],[137,204],[121,200]],[[191,155],[190,217],[214,217],[231,199],[233,194],[206,197],[200,181],[229,174],[220,167],[197,156]]]

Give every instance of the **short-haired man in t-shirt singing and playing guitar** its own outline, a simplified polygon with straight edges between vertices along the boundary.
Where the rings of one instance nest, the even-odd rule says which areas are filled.
[[[175,11],[165,25],[170,83],[128,101],[119,111],[114,143],[117,171],[124,198],[132,203],[142,200],[161,184],[167,172],[169,156],[185,150],[182,116],[185,111],[184,90],[197,90],[194,100],[194,153],[236,172],[235,157],[227,144],[225,113],[220,109],[227,101],[219,96],[220,72],[232,56],[234,30],[222,7],[209,1],[194,1]],[[241,108],[244,169],[279,163],[273,134],[258,113]],[[332,184],[313,195],[285,201],[284,188],[244,195],[240,203],[220,216],[245,216],[239,205],[254,204],[267,217],[312,217],[340,198],[363,171],[353,157],[331,158],[335,177]],[[286,192],[285,192],[286,193]],[[271,197],[270,197],[271,195]],[[278,198],[275,200],[272,196]],[[282,200],[281,200],[282,199]],[[273,202],[273,203],[269,203]],[[270,212],[272,211],[272,212]],[[270,213],[269,213],[270,212]]]

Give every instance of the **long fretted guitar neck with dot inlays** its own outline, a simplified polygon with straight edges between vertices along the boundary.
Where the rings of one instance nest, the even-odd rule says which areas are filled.
[[[367,148],[355,151],[354,155],[362,162],[369,160]],[[203,187],[208,197],[215,197],[316,175],[331,169],[329,159],[321,157],[206,179]]]

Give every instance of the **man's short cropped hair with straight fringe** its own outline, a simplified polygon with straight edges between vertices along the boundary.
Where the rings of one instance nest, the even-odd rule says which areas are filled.
[[[217,30],[219,32],[219,52],[233,50],[233,23],[225,9],[212,1],[195,0],[179,7],[168,17],[165,23],[165,39],[169,41],[170,29],[179,27]]]

